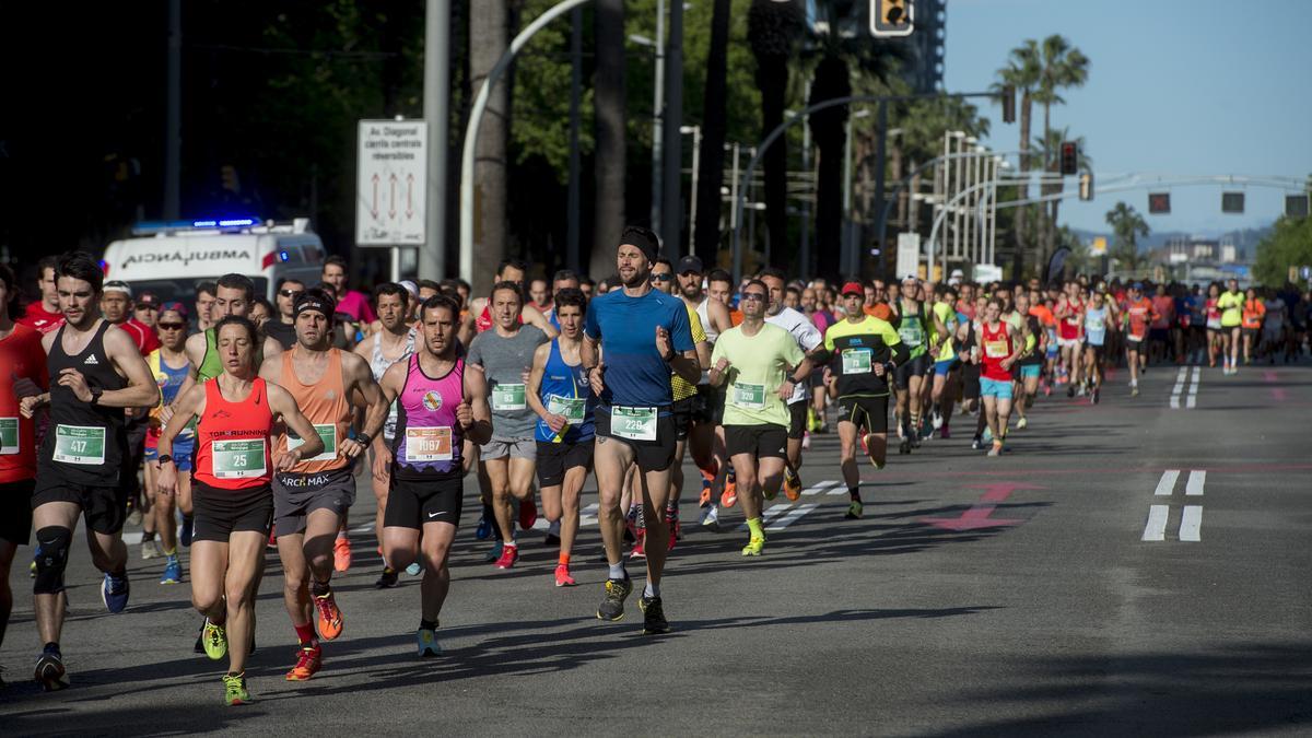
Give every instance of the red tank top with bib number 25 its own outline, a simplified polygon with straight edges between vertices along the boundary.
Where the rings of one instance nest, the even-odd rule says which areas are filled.
[[[219,490],[249,490],[269,483],[273,460],[273,410],[260,377],[241,402],[228,402],[218,380],[205,382],[205,412],[195,425],[195,471],[193,477]]]

